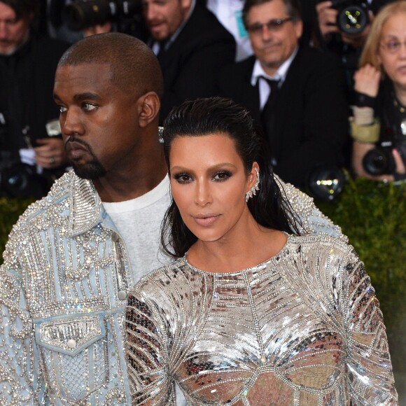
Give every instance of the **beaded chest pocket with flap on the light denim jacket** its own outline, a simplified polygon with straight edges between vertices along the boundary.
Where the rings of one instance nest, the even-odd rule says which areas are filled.
[[[101,314],[42,321],[36,325],[36,343],[52,395],[77,401],[107,383],[109,353]]]

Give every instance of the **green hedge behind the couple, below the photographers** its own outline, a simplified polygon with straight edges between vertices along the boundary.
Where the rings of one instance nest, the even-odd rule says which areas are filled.
[[[0,198],[0,252],[30,202]],[[336,200],[318,207],[342,227],[365,262],[384,312],[393,366],[406,371],[406,183],[347,179]]]

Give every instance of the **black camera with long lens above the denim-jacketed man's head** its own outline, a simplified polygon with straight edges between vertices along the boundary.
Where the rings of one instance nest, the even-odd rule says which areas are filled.
[[[120,26],[118,31],[127,32],[131,31],[129,25],[141,20],[141,1],[76,0],[64,7],[62,19],[71,31],[110,21]]]

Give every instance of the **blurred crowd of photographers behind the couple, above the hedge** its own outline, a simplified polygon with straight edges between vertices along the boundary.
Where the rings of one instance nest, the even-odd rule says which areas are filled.
[[[161,122],[221,95],[262,125],[276,174],[328,200],[353,176],[405,179],[406,1],[1,0],[0,194],[44,195],[66,169],[55,66],[121,31],[158,56]]]

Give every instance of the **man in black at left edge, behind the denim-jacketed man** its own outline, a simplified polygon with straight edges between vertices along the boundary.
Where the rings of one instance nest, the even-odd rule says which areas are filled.
[[[37,13],[0,0],[0,195],[45,195],[66,164],[52,86],[68,44],[38,36]]]

